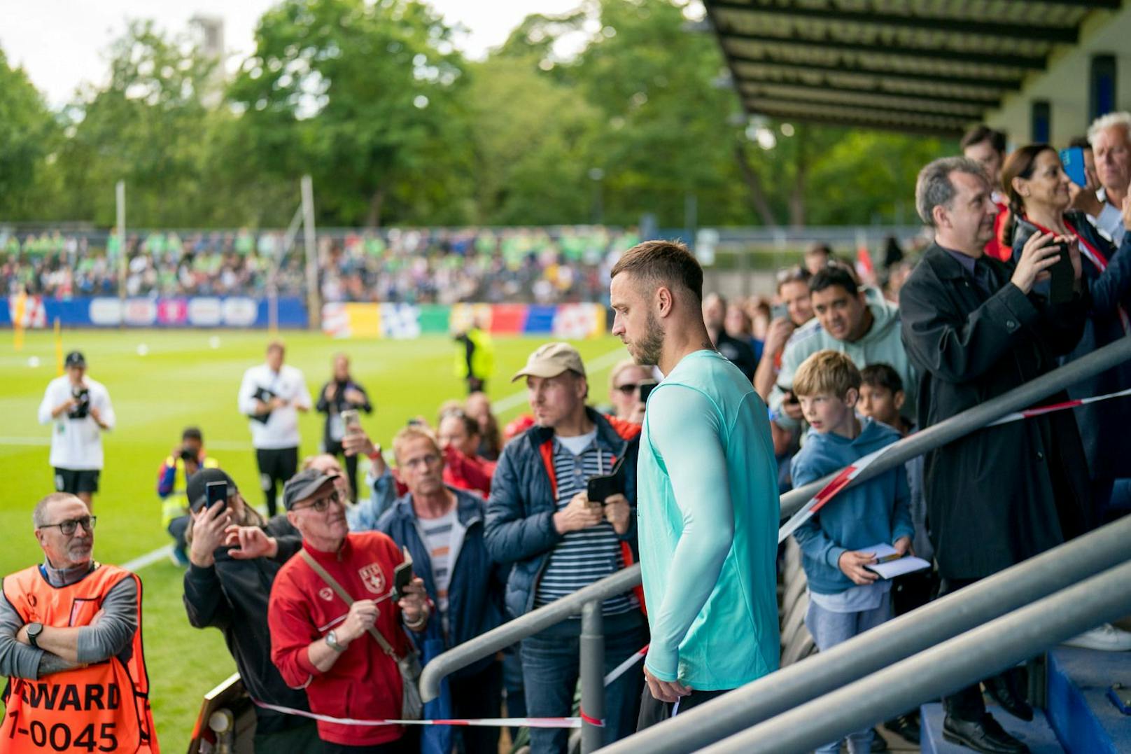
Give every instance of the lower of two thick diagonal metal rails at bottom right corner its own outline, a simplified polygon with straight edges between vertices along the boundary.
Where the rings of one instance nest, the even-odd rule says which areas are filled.
[[[702,751],[791,754],[844,738],[1126,615],[1129,580],[1124,563]]]

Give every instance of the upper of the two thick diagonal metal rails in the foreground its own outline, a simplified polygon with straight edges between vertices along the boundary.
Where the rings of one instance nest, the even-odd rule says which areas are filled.
[[[1129,541],[1131,517],[983,579],[604,751],[610,754],[696,751],[1117,565],[1128,557]]]

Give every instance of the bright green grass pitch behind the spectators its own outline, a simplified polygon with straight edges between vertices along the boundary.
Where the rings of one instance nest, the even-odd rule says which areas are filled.
[[[287,363],[299,367],[312,395],[330,374],[331,357],[344,351],[353,372],[372,396],[375,411],[363,417],[374,439],[389,440],[409,417],[434,421],[447,399],[461,397],[452,374],[456,345],[446,337],[415,341],[334,341],[320,333],[284,334]],[[487,387],[501,402],[500,422],[526,410],[521,385],[508,379],[537,345],[550,339],[495,339],[497,370]],[[98,529],[95,557],[122,564],[171,540],[161,526],[157,469],[179,443],[181,429],[199,426],[209,454],[232,474],[253,504],[261,504],[248,422],[236,411],[244,369],[262,362],[266,333],[205,331],[67,331],[64,351],[81,350],[89,375],[110,391],[116,428],[104,436],[105,469],[94,498]],[[139,349],[139,346],[146,346]],[[589,367],[590,395],[602,402],[608,369],[627,357],[616,339],[576,343]],[[141,353],[145,352],[143,355]],[[32,366],[35,360],[37,366]],[[31,332],[20,351],[11,333],[0,337],[0,574],[42,560],[32,533],[31,511],[52,491],[48,465],[49,428],[36,410],[55,376],[54,340]],[[518,395],[516,395],[518,394]],[[317,395],[316,400],[317,400]],[[301,418],[301,455],[318,451],[321,417]],[[181,603],[182,571],[161,559],[139,571],[146,660],[154,718],[165,751],[183,751],[201,695],[234,670],[218,631],[189,626]]]

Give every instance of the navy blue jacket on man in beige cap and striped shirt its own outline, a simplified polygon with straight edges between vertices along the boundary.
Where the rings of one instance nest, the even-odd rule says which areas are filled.
[[[605,417],[587,408],[589,421],[597,426],[597,444],[624,459],[624,496],[631,506],[629,530],[620,535],[624,564],[636,552],[636,470],[640,447],[640,426]],[[550,554],[562,535],[554,529],[558,512],[558,482],[553,463],[554,430],[530,427],[502,449],[491,479],[487,500],[486,545],[499,563],[513,564],[507,580],[507,609],[518,617],[534,607],[535,585]]]

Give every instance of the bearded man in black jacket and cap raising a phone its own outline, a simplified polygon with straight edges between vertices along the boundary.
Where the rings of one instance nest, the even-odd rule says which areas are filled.
[[[206,485],[226,482],[226,505],[206,506]],[[252,699],[307,711],[304,691],[284,683],[270,659],[267,601],[275,574],[299,551],[302,538],[276,516],[265,522],[235,482],[219,469],[204,469],[189,480],[192,512],[189,569],[184,573],[184,609],[197,628],[224,632],[244,687]],[[256,754],[305,754],[321,751],[313,721],[256,708]]]

